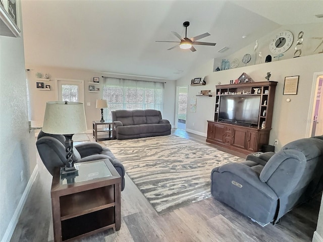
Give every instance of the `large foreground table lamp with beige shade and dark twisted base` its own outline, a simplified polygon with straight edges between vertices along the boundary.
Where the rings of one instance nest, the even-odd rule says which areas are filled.
[[[73,140],[76,133],[86,131],[84,104],[80,102],[47,102],[42,131],[47,134],[64,135],[66,163],[61,174],[77,173],[73,161]]]

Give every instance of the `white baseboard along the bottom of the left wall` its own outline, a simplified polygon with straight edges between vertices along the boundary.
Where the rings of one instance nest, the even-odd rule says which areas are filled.
[[[9,223],[9,225],[7,227],[7,230],[6,230],[4,236],[3,236],[2,240],[1,240],[2,242],[9,242],[10,241],[11,236],[15,231],[16,225],[17,225],[19,217],[20,217],[20,214],[21,214],[22,209],[23,209],[23,207],[25,205],[26,199],[27,199],[27,197],[29,195],[30,189],[31,189],[31,187],[32,187],[32,185],[33,185],[33,183],[34,183],[34,181],[36,179],[37,174],[38,174],[38,164],[36,164],[32,174],[30,176],[30,179],[28,180],[28,183],[27,183],[27,186],[25,188],[25,191],[21,196],[21,199],[20,199],[20,201],[18,203],[16,211],[15,211],[14,215],[12,216],[12,218],[10,220],[10,223]]]

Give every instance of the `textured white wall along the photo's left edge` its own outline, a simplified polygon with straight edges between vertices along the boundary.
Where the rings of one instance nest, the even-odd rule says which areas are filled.
[[[20,1],[16,3],[19,23]],[[0,48],[0,240],[7,241],[36,166],[36,149],[28,125],[23,37],[0,36]]]

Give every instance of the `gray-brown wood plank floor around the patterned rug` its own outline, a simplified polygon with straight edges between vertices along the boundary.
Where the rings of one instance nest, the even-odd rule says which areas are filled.
[[[206,144],[205,137],[182,130],[175,130],[173,133]],[[91,134],[88,136],[93,141]],[[245,157],[243,154],[233,154]],[[38,154],[37,163],[39,174],[31,188],[11,242],[53,241],[51,175],[43,166]],[[213,198],[158,215],[127,175],[125,179],[126,187],[121,193],[121,229],[117,232],[113,229],[106,230],[77,241],[308,242],[312,241],[313,232],[316,230],[320,195],[289,212],[279,225],[268,224],[261,227]]]

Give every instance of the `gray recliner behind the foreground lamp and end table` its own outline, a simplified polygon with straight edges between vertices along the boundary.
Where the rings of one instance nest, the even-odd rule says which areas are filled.
[[[53,175],[55,167],[65,166],[66,152],[64,143],[65,137],[63,135],[46,134],[40,131],[37,136],[36,146],[39,156],[51,175]],[[110,149],[95,142],[81,143],[73,147],[74,163],[99,159],[110,160],[122,178],[121,191],[123,191],[125,188],[125,168]]]

